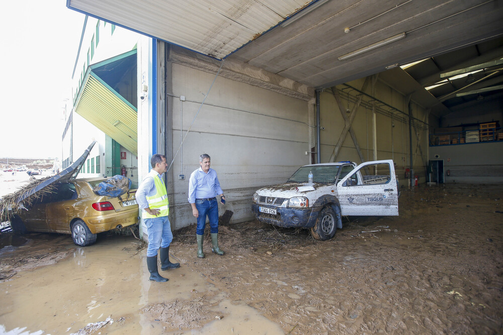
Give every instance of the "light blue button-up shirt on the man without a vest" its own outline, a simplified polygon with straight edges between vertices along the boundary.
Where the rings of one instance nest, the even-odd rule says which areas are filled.
[[[195,203],[196,199],[213,198],[223,194],[218,181],[217,173],[210,168],[204,173],[202,168],[192,172],[189,179],[189,203]]]

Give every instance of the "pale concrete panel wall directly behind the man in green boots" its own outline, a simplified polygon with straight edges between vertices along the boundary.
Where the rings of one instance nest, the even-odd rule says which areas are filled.
[[[168,68],[171,99],[167,122],[171,129],[167,133],[171,134],[172,146],[168,163],[174,161],[167,187],[172,228],[196,223],[187,198],[189,177],[199,168],[202,153],[211,156],[211,167],[217,171],[226,196],[226,205],[219,204],[220,215],[231,210],[232,222],[251,219],[255,190],[284,182],[299,166],[310,163],[305,152],[312,146],[308,125],[312,96],[288,96],[282,91],[284,87],[276,87],[276,91],[264,88],[272,85],[272,80],[264,82],[263,87],[254,85],[250,83],[253,75],[231,70],[235,64],[229,64],[215,79],[215,64],[198,60],[195,55],[190,60],[180,56],[172,51]],[[185,180],[179,180],[180,174]]]

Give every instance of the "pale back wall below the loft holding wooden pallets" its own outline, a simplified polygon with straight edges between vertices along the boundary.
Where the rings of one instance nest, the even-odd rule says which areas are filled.
[[[503,142],[446,145],[431,147],[430,159],[444,161],[446,183],[503,183],[502,152]]]

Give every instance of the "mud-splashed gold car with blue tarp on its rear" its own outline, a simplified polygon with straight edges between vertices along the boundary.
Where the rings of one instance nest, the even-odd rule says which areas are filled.
[[[138,222],[136,189],[119,197],[98,195],[93,188],[105,178],[69,179],[52,184],[11,220],[15,232],[71,234],[77,246],[88,246],[96,235]]]

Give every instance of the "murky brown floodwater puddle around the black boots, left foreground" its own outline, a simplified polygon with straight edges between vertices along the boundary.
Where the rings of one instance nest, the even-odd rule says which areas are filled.
[[[54,237],[57,235],[40,234],[35,241],[24,237],[11,241],[36,249],[47,240],[52,240],[53,248],[68,247],[64,236],[56,242]],[[57,264],[21,271],[1,282],[0,332],[76,333],[90,323],[109,318],[106,328],[99,330],[102,333],[166,333],[161,322],[139,311],[144,306],[190,300],[194,292],[208,292],[213,297],[206,313],[212,320],[204,327],[176,333],[283,333],[280,326],[256,309],[215,294],[214,285],[188,266],[160,271],[170,279],[166,283],[149,281],[145,251],[137,251],[137,245],[130,237],[107,237],[90,247],[75,247]],[[11,257],[23,252],[23,247],[5,248]]]

